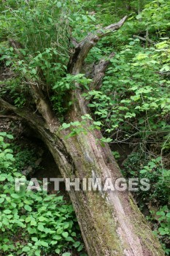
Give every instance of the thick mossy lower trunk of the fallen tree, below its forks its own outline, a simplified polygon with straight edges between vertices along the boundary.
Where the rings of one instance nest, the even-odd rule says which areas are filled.
[[[43,132],[39,128],[63,177],[74,180],[95,175],[104,182],[107,177],[115,180],[121,176],[109,146],[96,142],[100,132],[66,140],[66,131]],[[130,192],[78,192],[72,188],[69,195],[89,256],[164,255]]]

